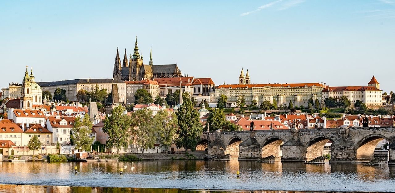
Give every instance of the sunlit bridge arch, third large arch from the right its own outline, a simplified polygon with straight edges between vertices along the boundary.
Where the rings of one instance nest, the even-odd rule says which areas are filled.
[[[274,155],[276,160],[280,160],[282,156],[282,147],[285,140],[279,136],[270,136],[261,143],[261,157]]]

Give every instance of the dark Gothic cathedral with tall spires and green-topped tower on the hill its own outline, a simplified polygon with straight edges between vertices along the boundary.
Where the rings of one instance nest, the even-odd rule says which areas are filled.
[[[171,78],[183,77],[181,70],[177,64],[154,65],[152,61],[152,49],[150,51],[149,65],[143,64],[143,55],[139,54],[137,46],[137,37],[134,47],[134,53],[131,54],[129,60],[126,56],[126,49],[123,62],[119,58],[119,50],[117,48],[117,56],[114,63],[114,79],[122,79],[123,81],[140,81],[142,79],[154,78]]]

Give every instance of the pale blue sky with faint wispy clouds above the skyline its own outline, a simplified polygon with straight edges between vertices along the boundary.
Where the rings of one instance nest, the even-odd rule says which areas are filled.
[[[149,63],[237,84],[395,90],[395,0],[0,1],[0,86],[112,78],[137,36]]]

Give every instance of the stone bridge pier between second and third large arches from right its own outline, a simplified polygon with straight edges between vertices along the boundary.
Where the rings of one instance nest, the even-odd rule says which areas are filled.
[[[305,162],[306,149],[300,140],[292,138],[282,145],[281,162]]]

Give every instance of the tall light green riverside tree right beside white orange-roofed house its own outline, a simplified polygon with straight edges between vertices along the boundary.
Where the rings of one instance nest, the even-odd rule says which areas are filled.
[[[85,114],[81,120],[80,116],[75,118],[73,125],[73,136],[75,149],[82,149],[83,151],[90,151],[92,146],[93,138],[89,137],[92,132],[93,124],[89,120],[89,115]]]

